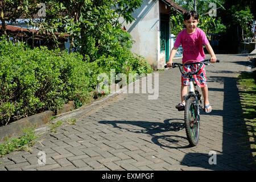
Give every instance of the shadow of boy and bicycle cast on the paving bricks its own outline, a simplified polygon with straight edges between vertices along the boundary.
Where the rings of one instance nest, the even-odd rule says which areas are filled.
[[[170,122],[170,121],[182,121],[181,122]],[[164,122],[149,122],[149,121],[99,121],[98,123],[105,125],[112,125],[118,129],[124,129],[133,133],[141,133],[150,135],[151,141],[160,147],[167,148],[189,148],[189,145],[185,145],[187,138],[179,135],[159,135],[165,132],[177,132],[185,128],[183,119],[166,119]],[[121,127],[119,125],[124,125]],[[127,128],[127,125],[134,125],[142,127],[143,129]],[[126,126],[126,127],[125,127]]]

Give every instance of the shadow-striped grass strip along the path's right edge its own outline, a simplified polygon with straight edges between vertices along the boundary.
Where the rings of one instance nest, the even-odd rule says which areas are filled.
[[[245,121],[247,139],[249,139],[253,150],[256,151],[256,72],[244,72],[238,76],[240,85],[240,98],[242,106],[242,117]]]

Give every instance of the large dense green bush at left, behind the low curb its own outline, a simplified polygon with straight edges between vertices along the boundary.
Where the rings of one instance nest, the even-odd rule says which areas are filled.
[[[5,125],[44,110],[60,109],[68,100],[85,100],[88,64],[78,53],[29,49],[0,42],[0,123]]]

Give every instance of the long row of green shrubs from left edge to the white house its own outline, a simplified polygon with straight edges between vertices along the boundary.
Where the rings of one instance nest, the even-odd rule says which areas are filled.
[[[143,57],[119,46],[113,55],[95,61],[79,53],[28,48],[23,43],[0,42],[0,125],[45,110],[60,109],[69,100],[81,106],[97,86],[97,76],[109,73],[152,72]]]

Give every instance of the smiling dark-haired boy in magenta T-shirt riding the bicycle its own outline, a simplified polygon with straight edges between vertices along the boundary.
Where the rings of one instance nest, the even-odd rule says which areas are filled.
[[[172,66],[172,59],[174,59],[175,53],[177,52],[177,48],[180,46],[183,47],[183,59],[182,63],[189,63],[195,61],[202,61],[205,59],[203,44],[207,51],[210,53],[210,63],[216,63],[216,56],[213,52],[212,47],[205,35],[205,32],[200,28],[197,28],[197,24],[199,23],[199,14],[196,11],[188,10],[183,15],[183,23],[187,28],[180,31],[177,35],[174,48],[172,48],[169,61],[167,62],[167,67]],[[188,65],[185,67],[185,71],[191,71],[196,68],[197,64]],[[202,89],[203,97],[204,97],[204,110],[206,113],[210,113],[212,111],[212,107],[210,106],[208,100],[208,86],[205,77],[205,65],[200,69],[200,71],[196,75],[197,78],[200,78],[200,82],[196,80],[197,85],[199,85]],[[187,94],[187,85],[189,85],[188,78],[181,76],[181,103],[176,105],[176,109],[185,107],[184,96]]]

